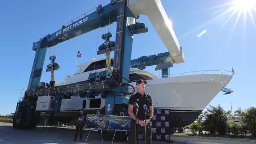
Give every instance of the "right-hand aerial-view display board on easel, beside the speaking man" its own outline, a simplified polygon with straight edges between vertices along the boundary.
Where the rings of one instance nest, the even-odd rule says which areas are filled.
[[[129,131],[132,118],[130,116],[110,116],[109,129]]]

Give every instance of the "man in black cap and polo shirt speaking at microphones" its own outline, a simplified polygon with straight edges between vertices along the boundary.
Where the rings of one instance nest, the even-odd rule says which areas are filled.
[[[128,113],[132,117],[132,122],[130,126],[130,132],[129,132],[129,140],[128,144],[134,144],[135,140],[138,138],[139,130],[142,129],[142,133],[145,136],[145,127],[146,127],[146,141],[147,144],[151,144],[152,136],[151,136],[151,124],[149,123],[153,113],[153,105],[151,97],[145,93],[145,84],[147,84],[147,81],[139,80],[136,82],[136,87],[138,89],[138,92],[130,97],[129,105],[128,105]],[[135,108],[134,103],[138,103],[138,115],[137,115],[137,122],[136,122],[136,134],[135,134]],[[143,108],[143,105],[147,105],[147,109],[149,110],[149,116],[146,117],[145,120],[145,110]],[[145,107],[145,106],[144,106]]]

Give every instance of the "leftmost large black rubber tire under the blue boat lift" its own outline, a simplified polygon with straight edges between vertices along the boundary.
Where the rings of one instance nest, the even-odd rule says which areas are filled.
[[[28,107],[27,106],[22,106],[20,111],[15,113],[13,115],[13,128],[15,129],[24,129],[25,128],[25,121],[26,121],[26,116],[28,113]],[[16,116],[17,114],[17,116]]]

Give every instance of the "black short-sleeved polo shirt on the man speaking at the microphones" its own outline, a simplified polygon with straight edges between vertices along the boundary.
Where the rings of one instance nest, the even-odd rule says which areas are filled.
[[[133,105],[135,102],[138,103],[138,118],[140,120],[145,120],[145,111],[143,109],[143,105],[147,105],[148,107],[148,111],[149,111],[149,107],[152,106],[152,99],[151,96],[148,94],[145,94],[142,96],[139,92],[137,92],[136,94],[130,96],[130,100],[129,100],[129,105]],[[135,109],[133,109],[134,114],[135,114]],[[149,116],[147,116],[148,119]]]

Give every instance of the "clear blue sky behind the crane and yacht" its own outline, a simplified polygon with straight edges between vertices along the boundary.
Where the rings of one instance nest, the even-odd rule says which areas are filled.
[[[0,64],[1,64],[1,100],[0,114],[15,111],[21,89],[26,89],[33,64],[35,52],[32,42],[48,33],[61,29],[63,24],[95,8],[99,4],[105,6],[110,0],[93,1],[18,1],[0,2]],[[234,5],[221,6],[232,0],[161,0],[163,7],[171,19],[174,31],[185,54],[185,63],[176,64],[171,73],[197,70],[231,70],[236,71],[233,79],[226,86],[234,90],[232,94],[220,92],[210,104],[221,104],[225,110],[233,111],[237,107],[246,109],[256,107],[255,86],[255,54],[256,26],[255,9],[235,12],[228,9]],[[234,13],[234,14],[233,14]],[[145,23],[148,33],[134,36],[132,58],[142,55],[166,52],[163,42],[152,27],[147,17],[141,16],[137,22]],[[198,37],[202,31],[204,34]],[[41,81],[49,81],[50,72],[45,72],[50,63],[48,57],[55,54],[60,69],[56,70],[55,78],[72,75],[75,71],[78,47],[82,57],[78,63],[86,62],[95,57],[96,46],[104,41],[101,39],[103,29],[90,31],[70,41],[62,42],[48,48]],[[107,31],[107,29],[105,29]],[[115,33],[115,24],[111,25]],[[115,35],[112,41],[115,41]],[[98,44],[96,40],[98,38]],[[113,55],[113,54],[112,54]],[[99,55],[104,57],[104,55]],[[155,66],[148,67],[152,72]],[[161,72],[154,72],[161,75]]]

